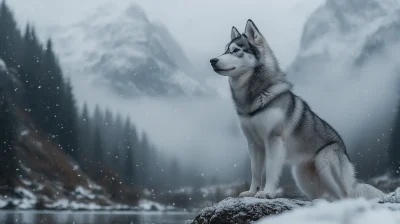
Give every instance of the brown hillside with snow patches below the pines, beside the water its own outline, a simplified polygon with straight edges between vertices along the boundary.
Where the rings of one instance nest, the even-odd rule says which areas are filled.
[[[95,184],[51,136],[38,131],[22,102],[22,85],[14,69],[0,60],[2,101],[12,102],[16,119],[16,175],[11,186],[1,189],[1,207],[87,209],[114,205],[109,195]]]

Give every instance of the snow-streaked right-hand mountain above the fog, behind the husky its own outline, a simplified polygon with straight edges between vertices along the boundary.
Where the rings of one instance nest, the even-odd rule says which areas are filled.
[[[383,57],[400,43],[399,15],[397,0],[327,0],[306,21],[288,73],[306,82],[332,63],[360,68]]]

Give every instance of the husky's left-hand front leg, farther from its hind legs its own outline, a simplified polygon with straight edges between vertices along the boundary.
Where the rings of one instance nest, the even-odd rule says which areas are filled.
[[[250,162],[251,162],[251,184],[250,190],[240,193],[239,197],[254,197],[262,185],[262,174],[265,169],[265,149],[256,146],[248,140]]]

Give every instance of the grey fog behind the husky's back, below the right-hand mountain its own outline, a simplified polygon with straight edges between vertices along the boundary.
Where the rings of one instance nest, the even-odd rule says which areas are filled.
[[[399,63],[396,49],[400,48],[386,49],[387,57],[369,58],[361,69],[345,63],[326,64],[322,73],[295,85],[295,93],[338,129],[350,149],[360,140],[371,141],[371,132],[377,130],[380,133],[373,140],[385,139],[391,134],[398,101],[399,75],[393,66]]]

